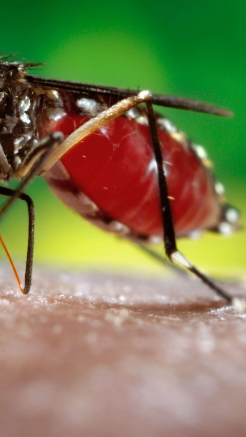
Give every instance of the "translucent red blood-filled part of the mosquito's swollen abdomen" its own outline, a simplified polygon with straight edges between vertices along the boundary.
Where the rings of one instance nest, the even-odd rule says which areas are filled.
[[[79,115],[65,116],[55,130],[69,135],[85,121]],[[50,133],[49,129],[46,132]],[[176,235],[215,226],[220,205],[210,172],[188,146],[163,130],[159,137]],[[163,234],[148,126],[118,117],[76,144],[61,162],[76,190],[88,196],[105,216],[141,235]],[[51,176],[52,169],[48,181]],[[62,193],[58,197],[64,200]]]

